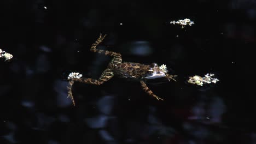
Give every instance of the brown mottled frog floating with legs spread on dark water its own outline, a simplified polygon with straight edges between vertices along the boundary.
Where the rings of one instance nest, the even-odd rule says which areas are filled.
[[[98,80],[86,78],[86,77],[74,77],[68,80],[68,98],[71,98],[73,105],[75,106],[74,97],[72,94],[72,86],[74,82],[82,82],[91,85],[102,85],[104,82],[112,79],[113,76],[118,76],[123,79],[129,79],[133,81],[138,81],[141,83],[141,88],[148,95],[154,97],[157,100],[164,100],[158,96],[156,96],[147,86],[147,80],[150,79],[159,79],[164,78],[168,81],[176,81],[174,77],[177,75],[168,74],[168,70],[166,65],[161,65],[160,67],[156,63],[151,64],[141,64],[135,62],[123,62],[121,54],[117,52],[112,52],[108,50],[98,50],[96,47],[100,44],[103,39],[106,37],[106,34],[100,37],[95,41],[94,44],[91,45],[90,51],[101,53],[106,56],[113,57],[107,68],[103,71],[100,78]]]

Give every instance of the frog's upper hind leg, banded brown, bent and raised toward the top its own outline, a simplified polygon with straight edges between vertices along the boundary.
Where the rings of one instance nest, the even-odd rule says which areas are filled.
[[[102,37],[102,35],[100,35],[100,37],[95,41],[95,43],[91,45],[90,51],[97,52],[97,53],[103,53],[106,56],[113,57],[110,64],[114,65],[114,64],[121,63],[122,62],[122,57],[121,57],[120,53],[107,51],[107,50],[98,50],[98,49],[96,49],[97,45],[100,44],[105,37],[106,37],[106,34],[103,37]]]

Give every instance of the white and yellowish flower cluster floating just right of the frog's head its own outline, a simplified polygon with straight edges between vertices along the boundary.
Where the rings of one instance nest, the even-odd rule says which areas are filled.
[[[188,82],[197,86],[203,86],[203,84],[205,83],[216,83],[217,81],[219,81],[212,76],[214,76],[214,74],[206,74],[205,77],[201,77],[199,75],[190,76]]]

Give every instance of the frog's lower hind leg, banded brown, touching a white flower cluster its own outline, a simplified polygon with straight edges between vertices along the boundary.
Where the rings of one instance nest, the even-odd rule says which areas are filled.
[[[102,83],[111,79],[113,76],[114,76],[114,74],[113,74],[112,70],[106,69],[103,71],[103,73],[101,74],[101,76],[98,80],[91,79],[91,78],[85,78],[85,77],[81,77],[80,79],[71,79],[69,81],[68,87],[67,87],[68,88],[68,97],[71,98],[73,105],[75,105],[74,97],[72,95],[72,86],[75,81],[88,83],[88,84],[92,84],[92,85],[101,85]]]

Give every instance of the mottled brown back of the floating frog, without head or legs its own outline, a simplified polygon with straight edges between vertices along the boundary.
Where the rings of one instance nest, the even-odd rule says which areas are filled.
[[[114,69],[114,75],[126,79],[141,79],[147,73],[149,65],[140,63],[120,63]]]

